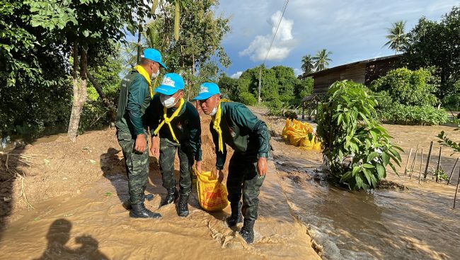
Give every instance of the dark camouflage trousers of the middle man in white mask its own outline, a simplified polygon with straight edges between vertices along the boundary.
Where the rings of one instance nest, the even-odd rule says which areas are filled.
[[[178,144],[166,138],[160,139],[159,164],[163,187],[166,189],[176,187],[176,179],[174,178],[174,159],[176,159],[176,151],[179,156],[180,164],[179,193],[188,195],[192,192],[191,169],[194,162],[192,147],[188,142]]]

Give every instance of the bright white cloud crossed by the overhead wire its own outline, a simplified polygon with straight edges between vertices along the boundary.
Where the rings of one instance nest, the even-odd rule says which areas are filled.
[[[281,12],[277,11],[270,17],[270,25],[272,33],[269,35],[257,35],[252,43],[243,51],[239,52],[240,56],[249,56],[254,62],[263,61],[267,55],[270,42],[275,33],[277,22],[280,19]],[[268,52],[267,60],[283,60],[296,45],[294,37],[292,37],[292,26],[294,21],[283,18],[278,28],[275,40],[270,52]]]

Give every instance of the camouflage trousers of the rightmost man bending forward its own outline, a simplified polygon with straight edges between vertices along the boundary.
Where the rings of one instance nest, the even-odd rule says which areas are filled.
[[[259,176],[257,160],[257,155],[248,156],[234,152],[229,162],[229,176],[226,181],[229,202],[238,204],[243,195],[241,212],[245,220],[257,220],[258,217],[258,196],[265,176]]]

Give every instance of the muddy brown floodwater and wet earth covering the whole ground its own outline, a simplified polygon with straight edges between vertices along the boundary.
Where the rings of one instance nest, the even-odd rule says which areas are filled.
[[[237,233],[241,224],[224,225],[229,208],[207,213],[196,193],[189,217],[178,217],[174,205],[159,209],[166,191],[153,157],[146,189],[153,198],[146,207],[163,219],[128,217],[122,206],[128,198],[122,154],[115,130],[108,129],[82,135],[75,145],[50,137],[21,152],[42,154],[30,169],[17,168],[26,172],[25,191],[34,208],[25,208],[20,182],[0,183],[0,204],[11,205],[0,216],[7,223],[0,229],[0,259],[321,259],[318,254],[323,259],[460,259],[460,209],[452,208],[459,166],[449,186],[432,180],[439,154],[435,136],[444,130],[460,140],[454,128],[385,125],[406,151],[401,176],[388,171],[387,179],[406,188],[350,192],[325,181],[320,153],[282,140],[283,119],[264,119],[275,151],[260,193],[254,244],[245,244]],[[413,178],[403,175],[408,150],[414,149],[412,162],[415,147],[423,149],[425,171],[430,141],[435,145],[427,179],[419,184],[420,152]],[[214,166],[213,149],[205,130],[205,169]],[[448,176],[458,157],[451,154],[442,149]]]

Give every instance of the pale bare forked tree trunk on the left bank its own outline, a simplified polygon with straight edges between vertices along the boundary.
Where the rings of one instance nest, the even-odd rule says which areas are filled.
[[[71,142],[76,141],[79,132],[80,115],[86,102],[88,93],[86,92],[86,70],[87,70],[87,50],[81,50],[80,73],[78,72],[78,45],[74,44],[74,100],[72,102],[72,111],[69,120],[69,129],[67,136]]]

